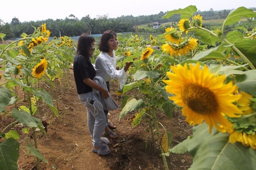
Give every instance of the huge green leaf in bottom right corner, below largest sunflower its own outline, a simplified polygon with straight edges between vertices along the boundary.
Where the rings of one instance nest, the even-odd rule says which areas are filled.
[[[215,128],[209,134],[209,126],[202,123],[193,128],[193,137],[189,136],[169,149],[168,154],[184,153],[187,150],[193,157],[189,170],[255,169],[256,151],[240,142],[230,143],[228,136]]]

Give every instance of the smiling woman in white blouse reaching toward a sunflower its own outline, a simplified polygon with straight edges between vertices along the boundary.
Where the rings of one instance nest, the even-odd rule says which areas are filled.
[[[109,90],[109,81],[112,79],[118,79],[120,88],[123,88],[123,85],[127,80],[126,71],[132,64],[132,62],[125,63],[125,67],[121,70],[116,69],[116,56],[115,51],[118,46],[118,40],[116,38],[116,33],[114,31],[108,30],[105,31],[101,35],[99,50],[101,53],[96,58],[95,61],[95,70],[96,76],[101,76],[107,84]],[[104,110],[106,115],[106,128],[105,134],[110,138],[116,138],[116,134],[111,131],[111,129],[115,129],[116,127],[108,122],[108,111]],[[110,129],[111,128],[111,129]]]

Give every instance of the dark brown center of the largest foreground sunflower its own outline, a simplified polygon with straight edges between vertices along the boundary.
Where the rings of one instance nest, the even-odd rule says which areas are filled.
[[[186,84],[181,91],[183,102],[194,112],[207,115],[217,111],[218,103],[209,88]]]

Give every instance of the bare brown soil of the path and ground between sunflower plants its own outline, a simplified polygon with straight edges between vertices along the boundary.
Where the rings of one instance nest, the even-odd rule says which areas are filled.
[[[58,83],[58,81],[55,81]],[[58,83],[59,84],[59,83]],[[119,120],[121,109],[110,111],[108,119],[114,123],[117,128],[116,139],[110,140],[111,153],[105,156],[99,156],[91,152],[92,139],[87,128],[86,107],[80,103],[73,77],[73,71],[69,74],[69,85],[65,93],[53,92],[54,103],[57,106],[59,117],[55,117],[52,111],[41,103],[38,108],[40,118],[47,122],[47,134],[37,132],[38,149],[47,159],[48,164],[40,162],[43,170],[161,170],[163,168],[162,157],[159,147],[153,149],[150,126],[146,119],[132,127],[131,119],[134,113],[128,113]],[[58,88],[60,85],[58,85]],[[61,86],[63,88],[63,84]],[[114,91],[117,90],[117,82],[110,83],[110,90],[113,99],[122,105],[122,96],[117,96]],[[58,90],[59,91],[59,90]],[[24,97],[23,92],[18,90],[19,100]],[[56,100],[58,98],[58,100]],[[20,105],[20,102],[17,103]],[[10,111],[12,108],[9,108]],[[191,126],[185,122],[185,118],[179,111],[173,113],[172,120],[169,120],[162,112],[157,112],[159,121],[165,128],[172,133],[173,139],[183,141],[192,134]],[[14,120],[9,116],[2,116],[0,120],[0,131]],[[33,141],[32,135],[22,133],[22,124],[11,126],[9,130],[16,130],[20,134],[20,156],[18,158],[19,170],[36,169],[34,157],[28,154],[26,149],[27,141]],[[161,128],[161,127],[160,127]],[[163,129],[161,129],[163,132]],[[104,136],[104,134],[103,134]],[[105,136],[104,136],[105,137]],[[0,140],[3,142],[3,140]],[[156,144],[159,141],[156,137]],[[172,147],[176,145],[172,142]],[[192,164],[192,157],[186,154],[171,154],[167,157],[169,169],[186,170]]]

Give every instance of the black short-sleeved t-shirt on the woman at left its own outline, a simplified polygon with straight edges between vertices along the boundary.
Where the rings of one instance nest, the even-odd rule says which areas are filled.
[[[90,60],[83,55],[77,55],[74,59],[73,71],[75,77],[76,90],[78,94],[88,93],[93,91],[93,89],[85,84],[83,80],[85,78],[93,78],[96,75],[96,71],[91,64]]]

